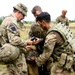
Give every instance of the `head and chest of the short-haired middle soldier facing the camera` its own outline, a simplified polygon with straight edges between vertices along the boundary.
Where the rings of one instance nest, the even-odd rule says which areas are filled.
[[[31,10],[32,14],[34,15],[34,17],[36,18],[41,12],[42,9],[40,6],[34,6],[33,9]],[[43,29],[37,24],[34,23],[31,26],[30,32],[29,32],[29,37],[38,37],[38,38],[42,38],[44,37],[43,35],[41,35],[41,33],[43,33]]]

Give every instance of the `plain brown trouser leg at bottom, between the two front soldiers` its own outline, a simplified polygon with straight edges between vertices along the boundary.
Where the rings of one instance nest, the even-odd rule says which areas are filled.
[[[27,62],[28,75],[39,75],[36,63]]]

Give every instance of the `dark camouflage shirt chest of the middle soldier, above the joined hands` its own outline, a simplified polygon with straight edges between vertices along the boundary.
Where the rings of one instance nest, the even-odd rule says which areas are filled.
[[[44,38],[46,35],[46,31],[44,31],[38,23],[33,23],[31,26],[31,29],[29,31],[29,37],[38,37],[38,38]]]

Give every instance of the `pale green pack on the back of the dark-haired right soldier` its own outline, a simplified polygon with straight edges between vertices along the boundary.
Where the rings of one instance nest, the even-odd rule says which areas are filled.
[[[75,36],[68,26],[58,23],[56,26],[50,29],[48,33],[52,31],[58,32],[63,37],[65,41],[65,43],[63,43],[63,46],[69,45],[72,48],[73,52],[75,52]]]

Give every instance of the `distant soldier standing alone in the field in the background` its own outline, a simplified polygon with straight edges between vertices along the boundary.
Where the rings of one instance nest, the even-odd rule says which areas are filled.
[[[62,14],[56,18],[56,23],[61,22],[64,23],[66,26],[69,26],[69,20],[66,17],[67,10],[62,10]]]

